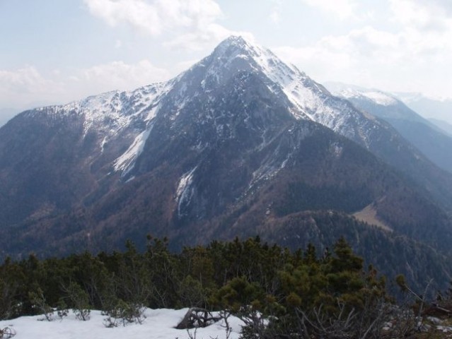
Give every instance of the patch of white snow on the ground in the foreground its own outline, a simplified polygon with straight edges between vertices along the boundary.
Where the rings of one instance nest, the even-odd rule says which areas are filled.
[[[107,328],[103,321],[107,316],[100,311],[91,311],[89,321],[80,321],[70,312],[62,321],[40,321],[43,316],[22,316],[21,318],[0,321],[0,329],[12,328],[16,332],[14,339],[190,339],[187,330],[177,330],[175,326],[182,320],[188,309],[146,309],[146,319],[140,324],[130,324],[125,327]],[[228,323],[232,328],[229,336],[237,339],[243,324],[236,317],[231,316]],[[192,338],[197,339],[226,339],[224,322],[214,323],[206,328],[198,328],[196,333],[189,330]]]

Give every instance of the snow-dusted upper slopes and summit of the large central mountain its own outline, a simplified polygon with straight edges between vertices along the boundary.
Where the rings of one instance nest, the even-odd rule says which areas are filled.
[[[270,49],[240,36],[228,37],[208,57],[166,83],[129,92],[104,93],[57,107],[56,110],[76,112],[82,116],[83,133],[89,130],[98,133],[100,153],[113,138],[127,136],[127,147],[122,148],[113,167],[122,175],[132,175],[131,170],[145,143],[155,132],[152,129],[158,117],[168,119],[167,124],[175,133],[184,129],[187,122],[199,120],[199,124],[204,126],[214,124],[216,138],[226,132],[225,135],[233,136],[230,133],[231,121],[227,119],[233,119],[231,114],[240,112],[228,106],[234,105],[233,102],[223,102],[219,90],[236,91],[234,100],[243,100],[240,93],[245,90],[250,93],[247,86],[260,85],[246,83],[247,76],[241,76],[242,73],[259,79],[260,85],[267,87],[265,96],[271,102],[278,101],[279,105],[286,107],[295,119],[318,122],[369,148],[368,132],[379,124],[377,121],[364,117],[346,100],[333,97],[323,85],[315,83],[295,66],[285,64]],[[259,91],[255,93],[262,95]],[[242,113],[243,117],[247,116],[246,112]],[[262,135],[272,129],[271,124],[267,126],[262,121],[258,124],[255,127]],[[197,133],[197,145],[210,142],[207,137],[201,137],[201,131]]]

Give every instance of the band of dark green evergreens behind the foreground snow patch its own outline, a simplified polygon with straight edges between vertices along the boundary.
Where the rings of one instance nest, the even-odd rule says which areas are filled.
[[[398,317],[386,278],[373,267],[364,270],[343,238],[321,256],[312,245],[289,251],[258,237],[214,241],[178,254],[168,250],[166,239],[152,237],[143,253],[132,242],[126,248],[96,256],[6,259],[0,266],[0,319],[47,316],[55,309],[60,316],[74,309],[83,320],[89,309],[101,309],[109,319],[139,319],[141,307],[198,307],[240,316],[248,325],[244,338],[383,338],[383,324]],[[401,314],[405,326],[408,317]],[[393,326],[390,335],[396,328],[402,331]]]

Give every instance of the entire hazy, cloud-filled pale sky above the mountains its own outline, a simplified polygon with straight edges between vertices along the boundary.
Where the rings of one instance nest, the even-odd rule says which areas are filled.
[[[452,97],[450,0],[0,0],[0,112],[167,80],[232,34],[315,81]]]

